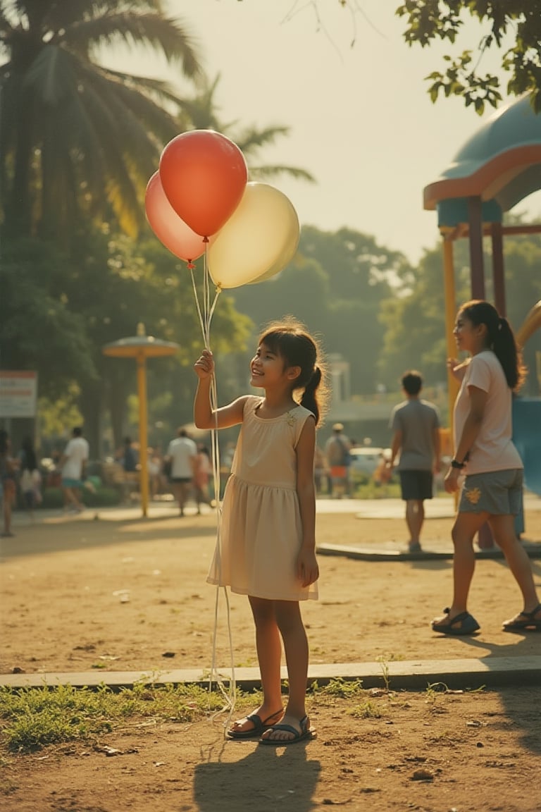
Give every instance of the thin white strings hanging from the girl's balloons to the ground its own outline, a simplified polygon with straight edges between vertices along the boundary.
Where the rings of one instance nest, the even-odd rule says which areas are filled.
[[[208,241],[207,241],[208,242]],[[200,304],[200,297],[198,295],[197,286],[195,284],[195,276],[193,269],[191,271],[191,283],[194,290],[195,296],[195,304],[197,307],[197,313],[200,320],[201,331],[203,334],[204,346],[206,349],[210,350],[210,326],[213,318],[214,310],[216,309],[217,299],[220,295],[220,288],[218,287],[211,304],[211,278],[208,272],[208,245],[205,246],[205,253],[204,253],[204,272],[203,272],[203,291],[202,291],[202,305]],[[221,482],[220,482],[220,447],[218,443],[218,418],[217,418],[217,382],[216,377],[213,375],[213,379],[211,381],[210,387],[210,404],[213,412],[215,412],[215,425],[214,428],[211,430],[211,447],[212,447],[212,466],[213,466],[213,482],[214,482],[214,501],[216,504],[216,514],[217,514],[217,541],[216,541],[216,560],[215,566],[218,575],[218,585],[216,590],[216,601],[214,607],[214,629],[213,629],[213,654],[212,654],[212,662],[211,662],[211,669],[210,669],[210,679],[209,679],[209,690],[212,691],[213,684],[216,683],[217,688],[219,689],[222,697],[225,699],[225,706],[223,706],[217,714],[221,714],[223,711],[229,711],[227,719],[225,719],[224,726],[228,728],[230,725],[230,720],[232,719],[234,713],[234,706],[236,700],[236,680],[235,680],[235,672],[234,672],[234,647],[233,647],[233,636],[231,631],[231,610],[230,610],[230,598],[227,587],[220,587],[221,581],[221,503],[220,503],[220,491],[221,491]],[[221,675],[217,672],[217,629],[218,629],[218,619],[219,619],[219,604],[220,604],[220,591],[223,590],[224,597],[225,597],[225,608],[226,608],[226,621],[227,621],[227,633],[228,633],[228,641],[229,641],[229,649],[230,649],[230,680],[229,680],[229,689],[226,689],[224,685],[224,681],[221,678]]]

